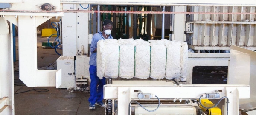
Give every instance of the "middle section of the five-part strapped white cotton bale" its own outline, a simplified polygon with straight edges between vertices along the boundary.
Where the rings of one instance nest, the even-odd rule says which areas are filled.
[[[148,44],[150,43],[148,42]],[[136,45],[136,52],[137,53],[135,54],[135,77],[146,79],[150,75],[150,46]]]

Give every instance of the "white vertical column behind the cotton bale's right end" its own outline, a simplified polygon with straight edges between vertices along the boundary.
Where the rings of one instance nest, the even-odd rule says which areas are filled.
[[[186,12],[186,6],[174,6],[174,12]],[[186,26],[186,14],[174,14],[174,40],[186,41],[186,36],[184,34]]]

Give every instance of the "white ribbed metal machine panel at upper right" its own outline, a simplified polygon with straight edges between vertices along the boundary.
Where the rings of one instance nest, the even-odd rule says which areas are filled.
[[[192,6],[191,12],[256,13],[256,7]],[[230,50],[231,45],[256,50],[255,14],[192,14],[193,34],[189,48],[194,50]]]

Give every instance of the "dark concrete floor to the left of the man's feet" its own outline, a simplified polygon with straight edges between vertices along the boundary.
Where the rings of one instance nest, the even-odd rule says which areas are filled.
[[[47,39],[38,37],[38,69],[46,67],[46,69],[57,69],[55,61],[59,56],[54,49],[41,48],[43,41],[47,41]],[[18,45],[18,41],[16,45]],[[16,46],[16,51],[18,52],[18,46]],[[61,53],[62,50],[58,50],[58,52]],[[16,58],[14,66],[17,69],[18,54]],[[15,84],[24,85],[20,84],[22,82],[18,80],[18,70],[14,72],[14,75]],[[70,92],[66,89],[56,89],[56,87],[34,87],[49,90],[48,92],[36,92],[32,90],[33,87],[17,85],[14,87],[14,92],[19,93],[15,94],[15,115],[105,115],[104,107],[96,106],[96,110],[89,109],[89,92]],[[20,93],[27,90],[32,91]]]

